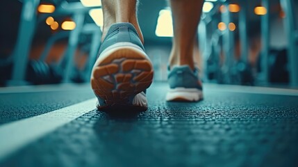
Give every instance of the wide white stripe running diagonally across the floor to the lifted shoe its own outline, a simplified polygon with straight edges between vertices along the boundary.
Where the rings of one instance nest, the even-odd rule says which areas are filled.
[[[0,161],[38,138],[94,109],[96,98],[0,126]]]

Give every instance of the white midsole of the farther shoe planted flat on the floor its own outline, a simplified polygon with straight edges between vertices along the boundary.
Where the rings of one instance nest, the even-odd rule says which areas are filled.
[[[167,102],[198,102],[203,100],[203,92],[197,88],[174,88],[167,92]]]

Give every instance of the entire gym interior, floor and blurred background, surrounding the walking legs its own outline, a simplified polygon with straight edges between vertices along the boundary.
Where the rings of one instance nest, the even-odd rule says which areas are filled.
[[[90,86],[100,0],[0,4],[0,166],[298,166],[298,1],[204,1],[188,103],[165,101],[169,4],[139,0],[154,83],[117,113]]]

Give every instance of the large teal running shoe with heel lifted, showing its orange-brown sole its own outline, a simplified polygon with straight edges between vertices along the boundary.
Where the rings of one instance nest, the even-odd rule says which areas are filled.
[[[133,24],[110,26],[91,74],[97,109],[147,109],[153,66]]]

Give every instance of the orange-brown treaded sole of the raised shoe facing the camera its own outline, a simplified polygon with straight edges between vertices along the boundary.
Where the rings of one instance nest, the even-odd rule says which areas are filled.
[[[149,88],[153,75],[152,63],[144,51],[121,42],[101,53],[92,70],[91,86],[106,106],[129,105],[129,100]]]

